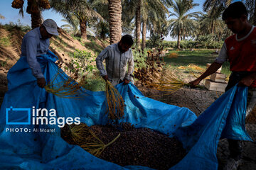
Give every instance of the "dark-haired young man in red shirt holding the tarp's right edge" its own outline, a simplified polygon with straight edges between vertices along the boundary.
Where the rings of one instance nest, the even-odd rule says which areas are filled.
[[[196,86],[201,80],[215,73],[221,65],[230,62],[230,80],[225,91],[238,84],[249,86],[247,98],[248,115],[256,104],[256,28],[247,21],[247,9],[242,2],[230,4],[223,12],[223,21],[234,35],[227,38],[220,50],[220,55],[215,62],[204,72],[201,77],[191,81],[191,86]],[[228,140],[230,159],[224,169],[237,169],[240,164],[241,147],[239,140]]]

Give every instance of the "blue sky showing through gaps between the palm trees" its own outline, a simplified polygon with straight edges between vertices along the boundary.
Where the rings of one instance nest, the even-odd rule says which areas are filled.
[[[28,25],[31,26],[31,16],[26,13],[26,8],[24,8],[24,17],[22,18],[19,14],[18,14],[18,9],[12,8],[11,7],[11,2],[13,0],[1,0],[0,2],[0,14],[2,16],[5,17],[5,19],[0,19],[0,23],[9,23],[9,22],[14,22],[14,23],[18,23],[18,20],[24,24],[24,25]],[[142,0],[143,1],[143,0]],[[193,8],[193,10],[191,11],[203,11],[202,7],[203,7],[203,3],[205,0],[194,0],[195,3],[199,4],[199,6],[196,6],[195,8]],[[235,1],[239,1],[239,0],[235,0]],[[26,0],[25,0],[25,4],[26,4]],[[61,21],[63,19],[62,16],[60,16],[60,14],[55,13],[54,11],[50,10],[46,10],[43,11],[43,19],[48,19],[51,18],[54,21],[56,21],[57,25],[60,27],[63,24],[65,24],[65,22]],[[166,40],[171,40],[171,38],[166,38]]]

